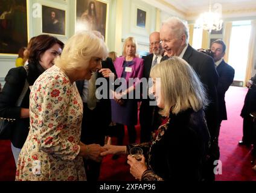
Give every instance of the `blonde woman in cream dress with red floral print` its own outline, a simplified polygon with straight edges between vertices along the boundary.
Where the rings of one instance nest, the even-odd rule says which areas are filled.
[[[68,40],[55,66],[37,78],[16,180],[86,180],[82,157],[102,159],[100,145],[80,142],[83,103],[75,81],[89,80],[101,68],[103,57],[107,57],[103,40],[92,32],[80,32]]]

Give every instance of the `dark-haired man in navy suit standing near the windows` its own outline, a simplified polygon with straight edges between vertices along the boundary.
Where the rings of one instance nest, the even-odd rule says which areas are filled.
[[[235,70],[223,60],[226,45],[222,40],[219,39],[214,41],[211,45],[211,51],[213,52],[213,59],[216,65],[216,70],[219,74],[219,84],[217,86],[219,103],[219,124],[217,131],[218,139],[220,133],[220,124],[223,120],[227,120],[225,93],[234,80]]]

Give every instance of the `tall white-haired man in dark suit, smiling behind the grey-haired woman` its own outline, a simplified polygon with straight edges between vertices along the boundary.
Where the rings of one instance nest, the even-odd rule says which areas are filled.
[[[205,86],[208,100],[210,101],[205,109],[205,118],[211,134],[211,147],[203,177],[205,180],[214,180],[213,163],[214,160],[219,159],[219,148],[217,148],[217,84],[219,82],[219,75],[217,74],[213,58],[196,51],[196,49],[188,44],[188,26],[178,17],[171,17],[162,24],[160,39],[162,47],[167,52],[162,61],[167,60],[171,56],[181,57],[193,67]]]

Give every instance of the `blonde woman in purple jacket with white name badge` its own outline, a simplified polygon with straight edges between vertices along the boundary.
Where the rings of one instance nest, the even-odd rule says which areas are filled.
[[[135,87],[139,86],[139,79],[143,76],[143,60],[136,57],[136,42],[133,37],[128,37],[124,41],[123,56],[118,57],[115,62],[115,71],[117,78],[125,78],[127,89],[123,90],[115,100],[111,100],[112,121],[117,123],[118,145],[123,144],[124,125],[127,125],[130,143],[135,143],[136,130],[135,125],[138,122],[138,101],[129,99],[129,93],[135,93]],[[133,86],[128,85],[129,78],[138,78]],[[135,95],[133,95],[135,96]],[[127,99],[125,99],[125,97]]]

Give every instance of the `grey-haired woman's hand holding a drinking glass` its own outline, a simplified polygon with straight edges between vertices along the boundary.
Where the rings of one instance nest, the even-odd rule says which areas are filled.
[[[135,179],[141,180],[143,172],[147,170],[145,157],[142,156],[141,161],[138,161],[131,155],[128,155],[127,159],[127,163],[130,165],[130,173]]]

